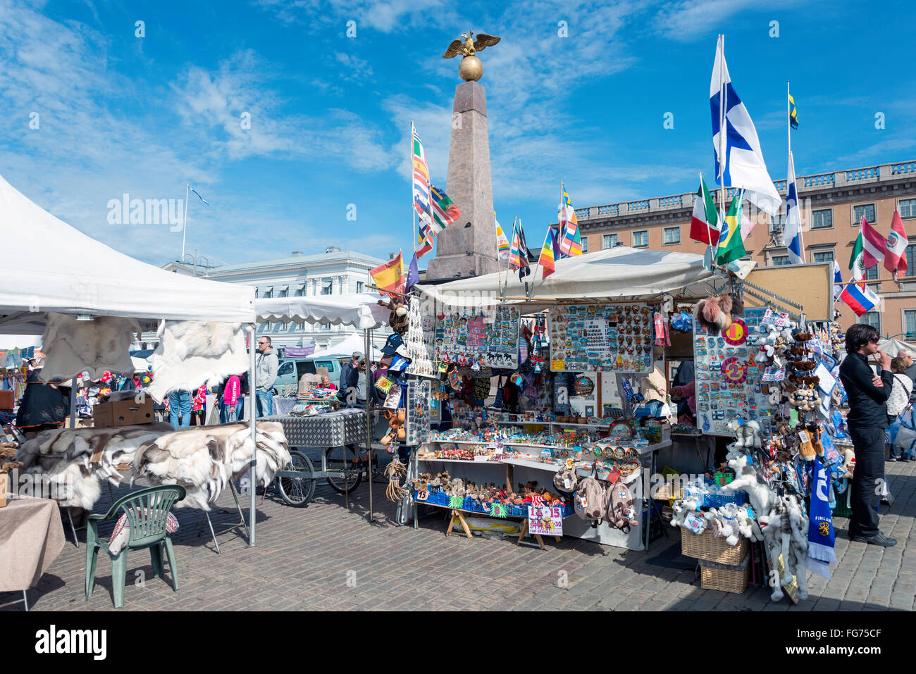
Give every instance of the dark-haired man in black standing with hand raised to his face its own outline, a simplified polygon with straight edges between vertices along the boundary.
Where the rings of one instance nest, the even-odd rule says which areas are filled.
[[[887,401],[893,375],[890,356],[878,351],[878,341],[878,331],[872,326],[856,323],[850,327],[840,379],[849,398],[846,423],[856,451],[849,538],[889,547],[897,541],[878,531],[878,503],[884,486],[884,429],[888,428]],[[868,365],[868,356],[875,354],[880,377]]]

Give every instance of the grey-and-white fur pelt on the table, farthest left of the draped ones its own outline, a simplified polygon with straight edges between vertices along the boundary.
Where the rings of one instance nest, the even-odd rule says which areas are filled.
[[[130,463],[142,444],[171,429],[171,424],[155,423],[114,429],[44,430],[23,443],[16,461],[23,462],[22,473],[41,475],[61,506],[92,510],[104,480],[115,486],[121,483],[123,478],[115,466]],[[102,455],[93,463],[93,453],[99,450]]]

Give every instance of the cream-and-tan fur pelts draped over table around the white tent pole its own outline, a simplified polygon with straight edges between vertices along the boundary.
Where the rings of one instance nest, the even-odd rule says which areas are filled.
[[[283,425],[257,424],[257,484],[267,486],[290,461]],[[176,507],[210,510],[230,480],[248,470],[255,443],[246,423],[180,429],[148,442],[136,452],[134,475],[145,475],[150,484],[180,484],[187,490]]]

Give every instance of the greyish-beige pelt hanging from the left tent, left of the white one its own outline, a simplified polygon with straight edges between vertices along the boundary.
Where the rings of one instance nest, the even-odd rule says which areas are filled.
[[[41,338],[45,345],[41,377],[45,381],[71,379],[88,371],[90,378],[98,379],[105,370],[134,372],[129,349],[135,332],[140,332],[140,326],[133,319],[97,316],[94,321],[77,321],[49,313]]]

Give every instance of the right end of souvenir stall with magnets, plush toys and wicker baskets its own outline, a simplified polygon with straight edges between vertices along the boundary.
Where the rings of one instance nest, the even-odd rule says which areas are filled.
[[[832,409],[839,330],[800,327],[771,307],[741,316],[735,299],[698,305],[695,349],[703,429],[736,440],[714,473],[668,485],[671,526],[682,527],[703,588],[740,593],[753,580],[772,601],[785,592],[797,603],[809,569],[830,577],[831,511],[847,514],[836,512],[855,462]]]

